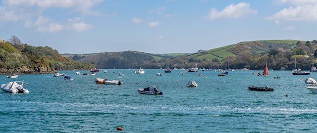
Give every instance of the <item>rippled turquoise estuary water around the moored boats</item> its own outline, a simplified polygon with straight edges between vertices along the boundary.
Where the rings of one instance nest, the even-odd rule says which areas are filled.
[[[271,71],[259,77],[252,74],[258,71],[234,71],[226,76],[213,71],[131,71],[108,69],[108,73],[101,70],[88,77],[75,74],[88,71],[60,71],[73,81],[53,74],[19,75],[18,79],[2,75],[1,84],[24,81],[30,93],[0,91],[0,132],[113,133],[117,126],[124,133],[316,132],[317,94],[305,89],[302,79],[317,73],[293,76],[290,71]],[[156,76],[158,72],[163,76]],[[124,73],[122,86],[94,82],[97,77],[113,79],[119,73]],[[190,80],[199,87],[186,88]],[[153,85],[163,95],[137,92]],[[250,85],[275,90],[247,90]]]

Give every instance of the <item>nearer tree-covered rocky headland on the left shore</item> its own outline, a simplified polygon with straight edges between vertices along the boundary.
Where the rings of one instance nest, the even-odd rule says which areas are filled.
[[[53,73],[56,70],[90,69],[95,66],[62,57],[49,46],[22,44],[16,36],[0,41],[0,74]]]

